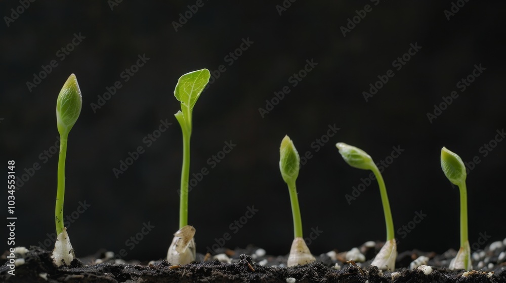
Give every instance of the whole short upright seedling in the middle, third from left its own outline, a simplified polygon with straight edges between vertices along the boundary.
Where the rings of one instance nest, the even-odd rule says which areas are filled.
[[[279,170],[283,180],[288,185],[290,193],[291,212],[293,215],[293,242],[291,244],[290,254],[288,256],[288,266],[303,265],[314,262],[316,259],[309,251],[304,238],[302,237],[302,219],[299,208],[299,198],[297,197],[296,180],[299,176],[301,159],[293,141],[285,135],[281,140],[279,148]]]

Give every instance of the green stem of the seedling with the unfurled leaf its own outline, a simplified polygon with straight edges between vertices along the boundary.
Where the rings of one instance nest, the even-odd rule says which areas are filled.
[[[179,203],[179,228],[188,225],[188,179],[190,176],[190,135],[191,130],[183,130],[183,168],[181,170],[181,199]]]

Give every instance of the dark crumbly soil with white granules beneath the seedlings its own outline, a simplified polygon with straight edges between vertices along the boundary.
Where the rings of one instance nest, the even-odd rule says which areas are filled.
[[[51,260],[51,251],[30,247],[16,254],[15,275],[5,263],[0,267],[0,282],[506,282],[505,245],[495,242],[483,251],[473,253],[473,266],[477,270],[448,270],[449,260],[456,252],[449,250],[443,255],[419,251],[402,252],[397,257],[396,270],[379,271],[369,263],[381,248],[382,243],[368,242],[358,248],[362,259],[346,263],[346,252],[333,251],[316,256],[311,264],[285,267],[287,256],[269,256],[263,249],[220,250],[220,262],[209,255],[197,254],[197,262],[172,266],[165,260],[146,264],[125,263],[114,260],[111,252],[75,259],[71,266],[56,267]],[[22,251],[23,249],[20,249]],[[357,252],[357,250],[355,251]],[[356,254],[356,253],[355,253]],[[5,253],[2,260],[7,261]],[[227,257],[225,257],[227,255]],[[351,253],[348,254],[350,256]],[[419,256],[429,258],[429,268],[412,267],[410,264]],[[359,256],[360,257],[360,256]],[[231,262],[231,263],[228,263]],[[483,266],[478,268],[477,266]],[[413,269],[414,268],[414,269]],[[424,272],[425,271],[425,272]]]

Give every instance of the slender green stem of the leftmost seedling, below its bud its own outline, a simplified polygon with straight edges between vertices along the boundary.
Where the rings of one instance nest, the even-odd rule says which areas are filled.
[[[63,232],[63,200],[65,198],[65,157],[67,156],[68,133],[60,134],[60,156],[58,159],[58,190],[56,192],[56,234]]]

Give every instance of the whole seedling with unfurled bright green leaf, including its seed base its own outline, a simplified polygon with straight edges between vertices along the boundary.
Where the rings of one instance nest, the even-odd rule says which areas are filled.
[[[188,225],[188,181],[190,176],[190,136],[192,130],[192,112],[195,103],[209,82],[210,73],[207,69],[193,71],[182,75],[174,96],[181,102],[181,110],[174,116],[183,132],[183,168],[181,169],[179,230],[167,252],[167,262],[187,264],[195,260],[195,228]]]

